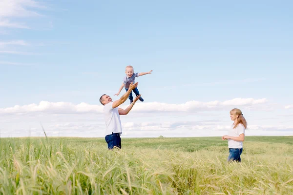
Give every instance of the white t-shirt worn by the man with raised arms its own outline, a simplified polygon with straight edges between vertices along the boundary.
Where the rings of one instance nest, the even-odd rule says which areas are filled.
[[[105,136],[111,135],[112,132],[122,134],[122,126],[118,107],[113,108],[113,102],[107,103],[104,106],[104,118],[106,123]]]

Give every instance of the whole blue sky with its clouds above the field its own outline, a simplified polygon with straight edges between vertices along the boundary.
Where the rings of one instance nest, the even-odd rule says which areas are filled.
[[[293,135],[292,8],[291,1],[1,1],[2,136],[39,135],[42,122],[52,136],[102,137],[98,99],[118,99],[126,65],[153,73],[137,78],[145,102],[122,118],[125,136],[218,136],[234,107],[247,114],[251,135]]]

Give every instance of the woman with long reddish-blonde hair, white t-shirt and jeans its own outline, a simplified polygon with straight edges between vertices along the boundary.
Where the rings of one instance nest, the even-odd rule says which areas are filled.
[[[230,155],[227,161],[241,162],[240,155],[243,150],[244,132],[247,128],[247,122],[243,117],[241,110],[234,108],[230,111],[230,118],[234,121],[231,125],[228,135],[222,136],[222,139],[228,139]]]

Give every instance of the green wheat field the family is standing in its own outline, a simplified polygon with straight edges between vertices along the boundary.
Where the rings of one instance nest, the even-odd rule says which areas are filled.
[[[293,137],[0,138],[2,195],[292,195]]]

